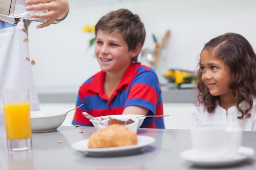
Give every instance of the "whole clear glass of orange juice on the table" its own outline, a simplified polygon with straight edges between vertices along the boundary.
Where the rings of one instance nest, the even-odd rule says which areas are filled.
[[[30,150],[32,132],[28,89],[2,91],[4,121],[9,151]]]

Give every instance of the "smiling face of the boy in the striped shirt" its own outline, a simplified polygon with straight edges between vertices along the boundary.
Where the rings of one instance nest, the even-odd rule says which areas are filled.
[[[107,30],[97,31],[95,55],[101,70],[112,73],[125,72],[135,57],[121,33]]]

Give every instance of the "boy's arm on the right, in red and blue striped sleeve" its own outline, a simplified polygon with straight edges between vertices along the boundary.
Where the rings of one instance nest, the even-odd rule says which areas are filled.
[[[162,115],[161,89],[152,71],[139,73],[130,84],[129,95],[122,114]]]

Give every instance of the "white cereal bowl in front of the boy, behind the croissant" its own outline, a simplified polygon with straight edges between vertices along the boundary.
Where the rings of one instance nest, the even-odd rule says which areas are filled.
[[[109,117],[111,117],[112,119],[119,119],[119,120],[121,120],[121,119],[126,119],[126,120],[132,119],[134,121],[134,119],[137,119],[138,120],[137,129],[138,129],[141,126],[141,124],[143,123],[144,119],[146,118],[146,117],[139,117],[139,116],[143,116],[143,115],[107,115],[107,116],[99,116],[99,117],[96,117],[96,118],[100,121],[103,121],[101,119],[108,119]],[[99,129],[99,125],[98,125],[97,121],[95,121],[93,119],[90,119],[90,121],[92,122],[93,126],[96,129]]]

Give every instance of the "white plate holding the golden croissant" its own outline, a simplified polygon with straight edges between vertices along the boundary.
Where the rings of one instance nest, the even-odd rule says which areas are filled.
[[[72,144],[72,148],[79,152],[83,152],[88,155],[93,156],[119,156],[119,155],[129,155],[141,150],[144,150],[146,146],[155,142],[155,138],[149,136],[138,135],[138,143],[131,146],[119,146],[110,148],[88,148],[89,139],[78,141]]]

